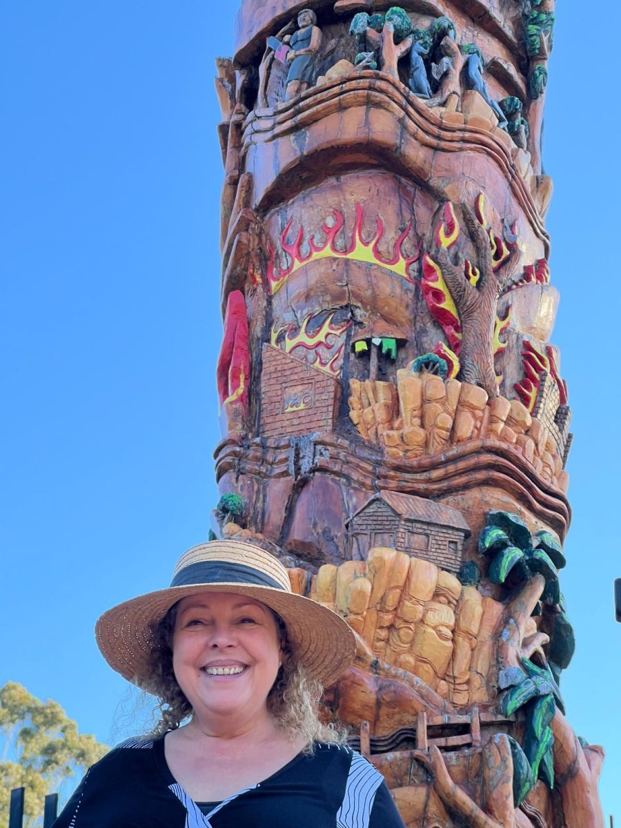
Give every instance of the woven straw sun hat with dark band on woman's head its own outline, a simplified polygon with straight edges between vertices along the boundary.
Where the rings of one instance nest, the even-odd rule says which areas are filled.
[[[95,627],[97,643],[110,667],[149,689],[153,628],[186,595],[229,592],[266,604],[286,624],[291,648],[311,678],[329,685],[352,662],[354,633],[331,609],[291,592],[280,561],[258,546],[211,541],[181,556],[168,589],[118,604]]]

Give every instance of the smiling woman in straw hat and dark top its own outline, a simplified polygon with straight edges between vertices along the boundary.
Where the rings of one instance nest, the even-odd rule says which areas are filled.
[[[381,775],[317,719],[354,635],[268,552],[195,546],[169,589],[108,610],[96,634],[161,722],[90,768],[55,828],[402,828]]]

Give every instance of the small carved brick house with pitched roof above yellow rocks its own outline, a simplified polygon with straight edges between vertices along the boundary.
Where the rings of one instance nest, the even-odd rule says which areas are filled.
[[[364,561],[373,546],[389,546],[457,572],[468,524],[457,509],[412,494],[381,491],[345,523],[349,553]]]

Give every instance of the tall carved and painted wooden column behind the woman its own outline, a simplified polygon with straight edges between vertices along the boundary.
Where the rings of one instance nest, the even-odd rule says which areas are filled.
[[[213,531],[354,629],[325,716],[408,828],[603,828],[603,752],[561,694],[554,4],[310,5],[241,0],[218,63]]]

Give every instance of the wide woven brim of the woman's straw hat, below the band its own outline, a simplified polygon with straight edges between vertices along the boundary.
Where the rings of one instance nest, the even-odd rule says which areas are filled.
[[[108,609],[95,626],[99,650],[113,670],[149,692],[154,626],[177,601],[210,592],[245,595],[273,609],[286,625],[296,661],[323,686],[354,660],[354,633],[331,609],[285,590],[225,582],[171,586]]]

